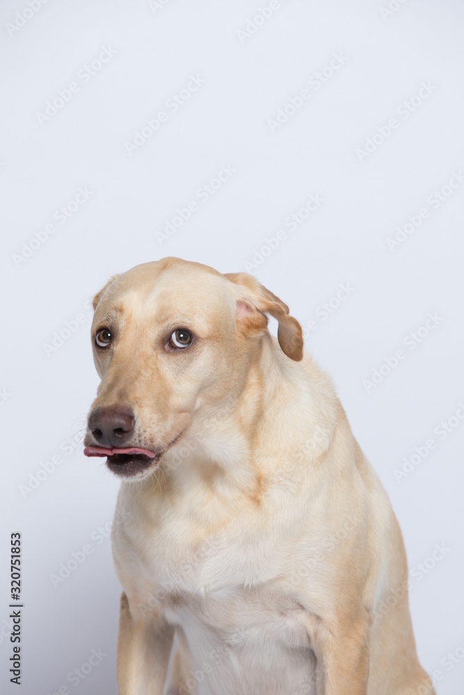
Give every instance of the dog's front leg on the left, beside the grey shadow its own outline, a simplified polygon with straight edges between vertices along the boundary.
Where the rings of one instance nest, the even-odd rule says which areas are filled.
[[[150,611],[145,616],[131,612],[126,594],[121,596],[118,632],[118,695],[161,695],[174,628]]]

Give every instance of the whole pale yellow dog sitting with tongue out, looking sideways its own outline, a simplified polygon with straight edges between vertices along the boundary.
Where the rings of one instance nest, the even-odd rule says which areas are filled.
[[[399,524],[288,306],[175,258],[93,306],[84,452],[122,480],[118,695],[166,692],[174,635],[171,695],[433,695]]]

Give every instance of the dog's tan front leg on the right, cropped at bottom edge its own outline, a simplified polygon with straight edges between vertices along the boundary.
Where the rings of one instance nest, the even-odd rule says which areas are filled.
[[[312,631],[317,656],[317,695],[366,695],[369,623],[344,628],[319,623]]]

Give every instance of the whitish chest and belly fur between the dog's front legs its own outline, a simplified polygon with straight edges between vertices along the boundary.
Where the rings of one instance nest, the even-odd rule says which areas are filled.
[[[209,531],[200,511],[195,521],[169,514],[149,541],[130,530],[116,539],[115,555],[125,553],[127,566],[130,548],[132,577],[145,578],[139,602],[161,608],[189,669],[204,674],[201,695],[312,693],[307,614],[285,584],[298,545],[282,518],[264,513],[225,522],[218,510]]]

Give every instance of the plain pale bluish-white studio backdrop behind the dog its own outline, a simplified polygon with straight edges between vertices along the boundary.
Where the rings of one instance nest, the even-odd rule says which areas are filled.
[[[26,0],[1,3],[2,692],[47,695],[63,685],[77,695],[115,692],[120,587],[98,528],[111,521],[118,482],[83,457],[80,440],[71,455],[64,449],[82,433],[97,386],[86,302],[115,272],[163,256],[223,272],[246,270],[254,258],[251,272],[303,326],[317,320],[305,347],[335,381],[415,568],[410,605],[420,660],[440,671],[438,694],[463,692],[464,660],[450,668],[447,654],[464,654],[464,421],[455,415],[464,414],[464,183],[446,186],[464,172],[464,8],[458,0],[392,1],[397,9],[387,15],[380,11],[387,0],[277,4],[244,35],[238,30],[253,30],[248,19],[266,0],[152,7],[49,0],[26,21],[16,15]],[[24,26],[8,30],[15,21]],[[115,55],[80,79],[104,47]],[[344,64],[330,71],[333,54]],[[318,81],[324,69],[328,77]],[[173,112],[166,101],[191,75],[204,83]],[[40,117],[73,81],[79,91]],[[401,104],[423,82],[431,93],[404,117]],[[269,120],[303,88],[310,98],[272,129]],[[163,110],[166,122],[129,154],[126,143]],[[388,133],[393,117],[398,127]],[[362,154],[376,133],[373,151]],[[236,171],[202,202],[196,192],[223,165]],[[428,202],[443,186],[443,202]],[[92,195],[65,224],[54,219],[86,187]],[[323,198],[317,211],[297,229],[285,226],[311,194]],[[160,243],[157,232],[192,200],[198,210]],[[391,250],[387,239],[424,207],[428,218]],[[54,234],[33,242],[38,248],[26,258],[23,243],[52,222]],[[285,240],[255,255],[279,230]],[[318,307],[342,283],[354,291],[324,320]],[[438,325],[408,347],[429,312]],[[79,328],[47,354],[54,334],[80,313]],[[363,384],[400,349],[404,359],[390,373],[384,366],[378,385]],[[451,431],[440,439],[435,428],[449,418]],[[428,439],[435,448],[397,480],[394,469]],[[33,489],[56,456],[61,462]],[[20,690],[8,682],[14,531],[23,537]],[[93,552],[55,588],[50,575],[86,543]],[[435,562],[437,543],[447,550]],[[426,574],[417,569],[424,562]],[[72,685],[67,674],[94,648],[106,656]]]

